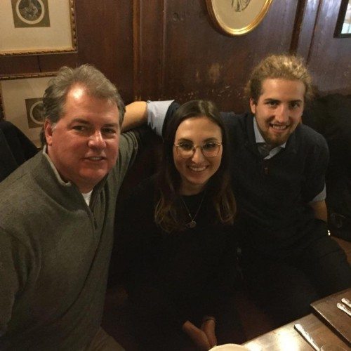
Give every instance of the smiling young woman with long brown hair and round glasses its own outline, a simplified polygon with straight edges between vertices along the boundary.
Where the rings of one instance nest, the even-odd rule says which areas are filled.
[[[179,351],[187,343],[208,350],[244,340],[231,301],[236,238],[228,157],[216,107],[187,102],[165,127],[159,173],[125,203],[121,251],[143,350]]]

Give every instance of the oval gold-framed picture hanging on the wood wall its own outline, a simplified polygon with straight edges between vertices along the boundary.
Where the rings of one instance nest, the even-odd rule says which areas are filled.
[[[206,0],[214,25],[230,35],[250,32],[263,20],[272,0]]]

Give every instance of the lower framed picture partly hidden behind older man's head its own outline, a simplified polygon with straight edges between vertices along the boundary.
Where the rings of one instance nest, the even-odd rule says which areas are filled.
[[[44,124],[43,95],[54,72],[16,77],[0,77],[0,107],[6,121],[15,124],[40,147]]]

